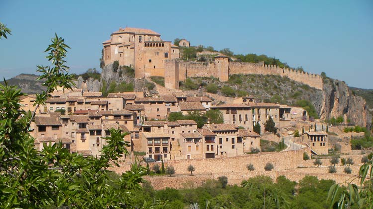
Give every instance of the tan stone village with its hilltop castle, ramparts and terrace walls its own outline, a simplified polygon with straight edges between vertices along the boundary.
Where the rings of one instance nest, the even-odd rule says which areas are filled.
[[[190,77],[213,76],[227,81],[233,74],[280,75],[322,89],[321,76],[264,63],[231,62],[223,54],[214,56],[214,62],[207,64],[181,61],[180,46],[191,47],[186,39],[176,46],[149,29],[126,27],[112,33],[103,42],[104,65],[118,62],[119,66],[134,68],[136,79],[164,77],[164,91],[152,96],[145,92],[103,96],[102,92],[84,88],[56,90],[36,112],[31,126],[35,147],[42,150],[45,143],[61,142],[70,152],[99,156],[109,130],[119,128],[129,133],[124,140],[131,145],[128,150],[131,155],[123,159],[121,170],[116,172],[125,171],[136,159],[145,159],[152,160],[149,161],[152,164],[162,161],[172,165],[177,174],[188,173],[188,165],[196,167],[196,174],[203,174],[195,179],[150,179],[156,189],[181,187],[185,179],[201,184],[222,174],[228,176],[230,184],[260,174],[273,178],[285,175],[296,181],[309,173],[336,181],[350,177],[341,174],[342,171],[337,176],[326,175],[327,168],[313,166],[310,157],[327,156],[331,149],[338,148],[358,163],[362,156],[353,153],[349,140],[364,133],[346,134],[342,127],[310,117],[303,108],[264,103],[253,96],[217,103],[218,95],[179,90],[179,81]],[[23,97],[23,109],[33,111],[34,100],[35,95]],[[200,116],[211,112],[221,117],[220,123],[170,118],[170,115]],[[269,149],[268,144],[280,149],[271,150],[274,147]],[[327,158],[321,161],[329,164]],[[248,163],[255,166],[255,173],[247,173]],[[275,173],[265,173],[263,167],[268,163],[273,165]]]

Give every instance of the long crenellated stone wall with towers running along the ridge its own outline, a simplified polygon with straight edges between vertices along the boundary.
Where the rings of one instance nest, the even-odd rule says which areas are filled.
[[[216,56],[214,62],[186,62],[180,60],[165,60],[165,87],[178,89],[179,81],[189,77],[216,77],[227,81],[233,74],[279,75],[294,81],[307,84],[316,89],[323,89],[322,77],[317,74],[280,68],[275,65],[249,62],[229,62],[226,56]]]

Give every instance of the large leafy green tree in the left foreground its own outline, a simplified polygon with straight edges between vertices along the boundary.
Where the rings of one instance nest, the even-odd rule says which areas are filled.
[[[62,143],[44,144],[42,151],[34,148],[28,131],[39,106],[57,86],[74,85],[64,60],[67,48],[55,35],[46,49],[52,66],[37,66],[46,90],[36,94],[34,112],[20,109],[20,89],[0,84],[0,208],[121,208],[124,203],[134,208],[132,196],[141,188],[144,168],[132,164],[115,187],[108,175],[108,168],[129,154],[130,145],[123,140],[129,133],[110,129],[98,157],[70,153]]]

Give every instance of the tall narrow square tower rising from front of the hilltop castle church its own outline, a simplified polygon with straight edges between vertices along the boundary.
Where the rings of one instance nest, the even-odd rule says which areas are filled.
[[[145,77],[144,35],[135,34],[135,78]]]

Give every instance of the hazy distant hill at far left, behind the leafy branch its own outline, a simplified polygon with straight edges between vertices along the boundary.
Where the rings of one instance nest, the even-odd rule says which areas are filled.
[[[11,79],[6,80],[8,84],[18,86],[22,89],[22,92],[27,94],[41,93],[43,90],[46,90],[42,86],[43,80],[36,81],[38,75],[35,74],[19,74]],[[1,84],[4,82],[1,81]]]

